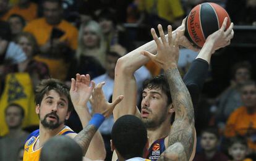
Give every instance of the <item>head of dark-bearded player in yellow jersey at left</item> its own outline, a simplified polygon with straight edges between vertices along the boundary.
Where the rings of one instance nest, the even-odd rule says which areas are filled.
[[[42,80],[36,87],[35,102],[40,127],[49,130],[62,128],[74,108],[68,86],[52,78]]]

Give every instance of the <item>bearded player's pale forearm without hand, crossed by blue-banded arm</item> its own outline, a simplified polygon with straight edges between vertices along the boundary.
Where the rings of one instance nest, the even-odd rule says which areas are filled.
[[[87,105],[85,105],[85,107],[82,108],[76,108],[75,111],[77,112],[77,115],[79,115],[80,122],[82,123],[83,128],[85,128],[88,125],[90,119],[92,118],[87,110]],[[106,150],[103,138],[99,131],[96,131],[87,149],[88,151],[86,152],[85,157],[90,158],[92,160],[105,159]]]

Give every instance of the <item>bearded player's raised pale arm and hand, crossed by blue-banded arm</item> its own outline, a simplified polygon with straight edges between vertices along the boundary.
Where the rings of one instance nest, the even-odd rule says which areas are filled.
[[[90,84],[92,84],[92,86],[90,86]],[[90,75],[77,74],[76,80],[74,78],[71,80],[70,97],[74,105],[75,112],[79,115],[83,128],[87,126],[88,122],[92,118],[87,109],[87,102],[92,94],[94,86],[95,83],[90,81]],[[90,130],[90,128],[87,130]],[[70,137],[74,138],[75,136],[76,134],[72,134]],[[96,134],[94,134],[85,157],[92,160],[105,159],[106,149],[99,131],[96,131]]]

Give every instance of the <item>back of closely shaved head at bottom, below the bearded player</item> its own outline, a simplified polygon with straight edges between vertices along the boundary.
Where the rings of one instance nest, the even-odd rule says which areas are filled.
[[[41,161],[82,161],[82,148],[67,136],[54,136],[43,146],[40,154]]]

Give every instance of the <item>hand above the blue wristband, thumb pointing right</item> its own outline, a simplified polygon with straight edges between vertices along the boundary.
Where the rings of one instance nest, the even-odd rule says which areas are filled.
[[[105,118],[108,118],[112,114],[114,107],[116,107],[116,105],[122,101],[124,96],[120,95],[112,103],[109,103],[108,101],[106,101],[106,98],[102,91],[103,85],[105,85],[105,82],[101,82],[96,86],[92,93],[90,103],[92,104],[93,114],[102,114]]]

